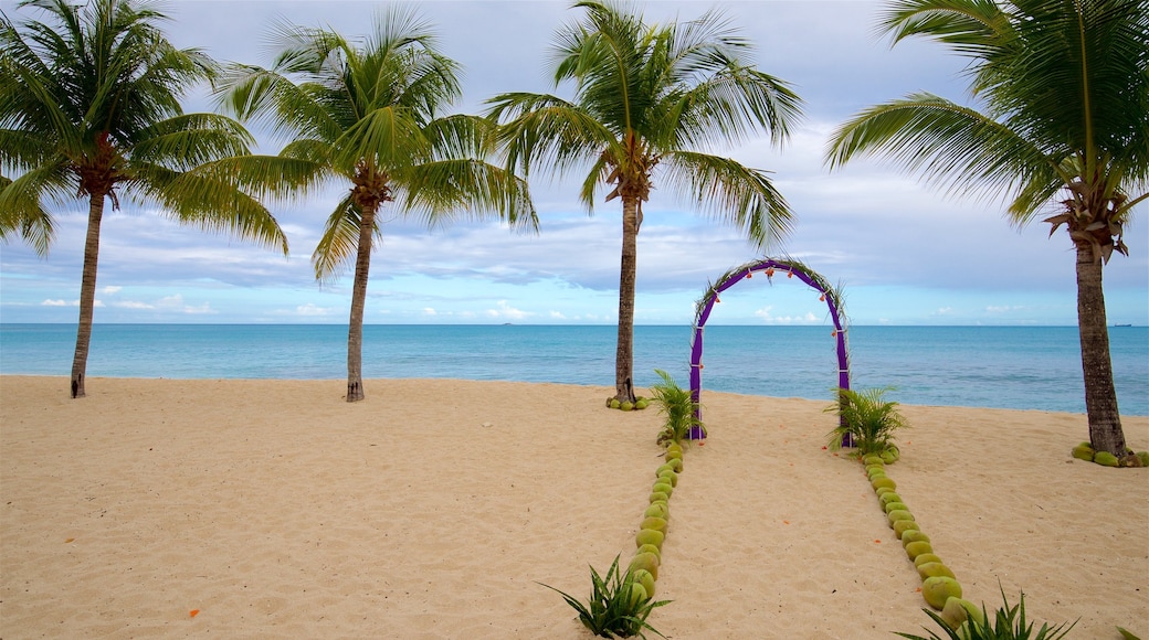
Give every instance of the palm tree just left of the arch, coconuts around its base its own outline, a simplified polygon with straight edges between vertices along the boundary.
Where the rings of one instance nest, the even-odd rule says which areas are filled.
[[[634,401],[634,283],[642,203],[655,177],[716,218],[741,227],[765,247],[789,227],[791,211],[766,173],[696,149],[739,141],[758,128],[774,142],[800,116],[786,83],[743,64],[750,44],[719,13],[668,25],[647,25],[615,2],[577,2],[581,21],[560,30],[554,48],[556,88],[574,96],[504,93],[489,101],[503,120],[508,162],[565,173],[589,165],[579,193],[593,210],[622,200],[623,247],[618,284],[615,398]]]

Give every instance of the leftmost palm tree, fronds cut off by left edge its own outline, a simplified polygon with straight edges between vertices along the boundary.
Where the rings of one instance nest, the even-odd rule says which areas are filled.
[[[179,96],[215,64],[177,49],[134,0],[26,0],[51,23],[17,28],[0,14],[0,237],[21,236],[46,255],[55,224],[46,203],[87,200],[87,239],[71,396],[84,397],[100,220],[105,201],[159,204],[177,221],[231,231],[287,253],[275,218],[215,171],[241,158],[250,136],[214,114],[184,114]]]

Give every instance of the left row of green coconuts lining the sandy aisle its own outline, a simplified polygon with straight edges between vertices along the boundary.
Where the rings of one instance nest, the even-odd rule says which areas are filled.
[[[654,584],[662,564],[662,543],[666,539],[670,521],[670,497],[678,486],[678,474],[683,471],[683,445],[671,443],[666,446],[664,460],[665,463],[655,471],[650,505],[642,514],[642,523],[634,536],[638,548],[626,569],[633,580],[631,598],[634,602],[654,598]]]

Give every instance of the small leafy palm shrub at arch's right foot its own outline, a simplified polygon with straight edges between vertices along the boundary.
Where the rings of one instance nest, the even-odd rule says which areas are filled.
[[[846,436],[854,439],[857,455],[881,455],[889,463],[897,460],[899,450],[894,444],[894,431],[905,428],[905,417],[897,409],[897,403],[886,401],[882,396],[894,388],[836,389],[839,401],[824,411],[836,413],[841,419],[836,429],[826,434],[826,445],[832,450],[841,448]]]

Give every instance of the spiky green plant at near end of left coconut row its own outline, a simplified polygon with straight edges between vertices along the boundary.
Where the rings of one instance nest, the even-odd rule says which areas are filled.
[[[669,604],[670,601],[655,602],[647,596],[646,590],[634,579],[634,573],[618,568],[618,557],[615,556],[606,578],[599,576],[594,567],[591,567],[591,599],[586,604],[550,585],[539,584],[562,595],[563,600],[578,611],[579,622],[595,635],[601,638],[638,635],[646,640],[643,631],[658,633],[658,630],[646,622],[650,611]]]

